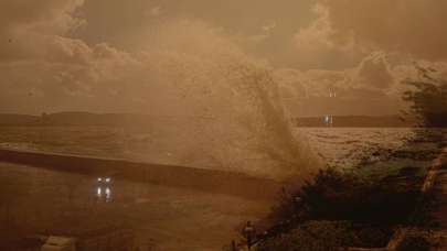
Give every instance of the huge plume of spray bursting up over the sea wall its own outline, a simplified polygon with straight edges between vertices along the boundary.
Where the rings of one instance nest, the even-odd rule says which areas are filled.
[[[291,133],[266,63],[200,23],[163,26],[151,47],[143,62],[169,110],[151,128],[151,161],[272,177],[316,163]]]

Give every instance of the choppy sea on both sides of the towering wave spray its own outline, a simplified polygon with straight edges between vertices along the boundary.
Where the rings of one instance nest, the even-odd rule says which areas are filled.
[[[298,134],[302,148],[309,148],[324,165],[352,168],[365,159],[379,157],[383,151],[406,148],[422,130],[294,128],[294,134]],[[446,129],[428,130],[447,134]],[[0,127],[0,148],[3,149],[179,164],[177,145],[160,138],[147,130],[110,127]],[[439,142],[413,142],[413,148],[432,150],[436,143]]]

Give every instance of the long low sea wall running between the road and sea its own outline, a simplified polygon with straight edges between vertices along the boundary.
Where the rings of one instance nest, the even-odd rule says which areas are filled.
[[[134,182],[188,187],[249,199],[273,199],[280,184],[242,173],[125,160],[50,154],[0,149],[0,161],[85,175],[113,175]]]

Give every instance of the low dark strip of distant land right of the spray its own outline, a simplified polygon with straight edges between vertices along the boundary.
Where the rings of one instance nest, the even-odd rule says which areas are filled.
[[[294,119],[294,124],[304,128],[328,127],[322,117]],[[408,128],[416,127],[416,119],[402,119],[400,116],[334,116],[332,126],[336,128]]]

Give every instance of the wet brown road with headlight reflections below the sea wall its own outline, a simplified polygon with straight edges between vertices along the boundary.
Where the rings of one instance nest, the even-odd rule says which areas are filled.
[[[119,177],[110,187],[110,203],[98,203],[96,178],[0,163],[0,197],[8,197],[11,220],[20,231],[76,234],[124,225],[136,230],[138,243],[163,251],[221,250],[241,223],[265,217],[273,204]]]

